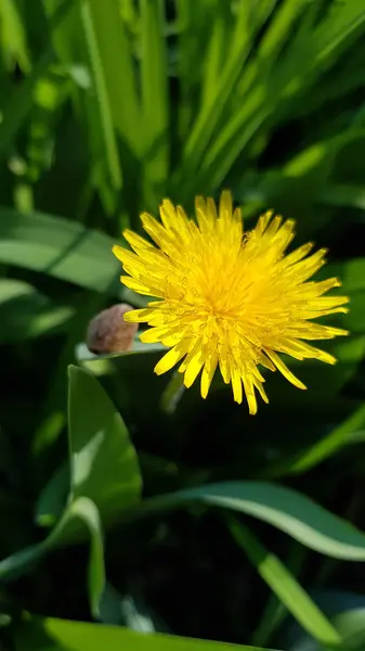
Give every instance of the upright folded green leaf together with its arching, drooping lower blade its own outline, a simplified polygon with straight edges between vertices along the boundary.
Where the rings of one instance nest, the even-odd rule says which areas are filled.
[[[0,579],[12,579],[52,549],[82,539],[86,525],[91,541],[89,596],[96,613],[104,587],[101,522],[115,521],[123,508],[139,500],[141,475],[120,414],[97,380],[77,367],[69,368],[69,447],[70,493],[63,515],[42,542],[0,562]],[[62,481],[61,476],[61,488]],[[51,495],[47,501],[51,509],[45,515],[52,516],[57,500]]]

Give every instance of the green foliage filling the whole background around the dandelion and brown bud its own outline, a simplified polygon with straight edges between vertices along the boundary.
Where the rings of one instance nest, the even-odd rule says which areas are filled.
[[[364,0],[0,0],[1,649],[364,649]],[[143,305],[122,228],[223,187],[351,296],[255,419],[83,344]]]

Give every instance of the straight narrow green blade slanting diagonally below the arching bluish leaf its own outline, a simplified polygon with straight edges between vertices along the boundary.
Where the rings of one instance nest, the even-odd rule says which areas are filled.
[[[226,523],[236,542],[272,591],[302,627],[323,644],[338,644],[341,636],[281,560],[248,527],[229,515]]]

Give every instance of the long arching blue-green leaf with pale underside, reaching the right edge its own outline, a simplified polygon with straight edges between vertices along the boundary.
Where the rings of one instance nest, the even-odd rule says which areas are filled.
[[[304,495],[265,482],[225,482],[145,500],[128,519],[190,502],[238,511],[272,524],[305,547],[331,558],[365,560],[365,534]]]

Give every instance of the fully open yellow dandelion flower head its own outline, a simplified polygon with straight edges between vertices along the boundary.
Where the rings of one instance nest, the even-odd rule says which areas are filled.
[[[265,403],[260,367],[305,388],[278,353],[296,359],[336,359],[307,343],[333,339],[347,331],[313,323],[317,317],[348,311],[347,296],[324,296],[340,286],[337,278],[309,281],[325,263],[326,250],[315,253],[304,244],[285,255],[294,238],[295,222],[262,215],[249,232],[243,230],[239,208],[233,210],[224,191],[219,209],[212,199],[195,201],[197,224],[181,206],[164,200],[161,222],[141,215],[144,230],[157,247],[130,230],[123,235],[134,253],[114,246],[129,276],[121,282],[140,294],[153,296],[144,309],[125,314],[126,321],[151,326],[142,342],[161,342],[169,348],[155,372],[169,371],[179,361],[190,387],[201,371],[200,393],[206,398],[217,367],[231,383],[236,403],[245,391],[249,412],[257,412],[256,390]]]

